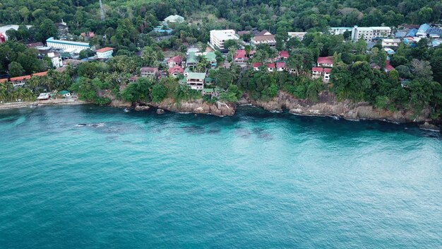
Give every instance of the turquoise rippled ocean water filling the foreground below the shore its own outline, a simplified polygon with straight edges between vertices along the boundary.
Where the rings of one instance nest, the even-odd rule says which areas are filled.
[[[0,150],[0,248],[442,248],[414,126],[58,106],[0,111]]]

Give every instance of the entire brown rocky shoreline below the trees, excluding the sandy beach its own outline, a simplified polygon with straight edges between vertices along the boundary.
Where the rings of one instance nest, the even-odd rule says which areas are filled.
[[[318,95],[317,102],[298,99],[289,93],[280,91],[270,101],[250,100],[247,95],[244,95],[236,104],[227,104],[220,101],[210,104],[203,102],[201,99],[176,103],[172,98],[167,98],[160,103],[141,103],[141,105],[148,105],[171,112],[189,112],[217,116],[233,116],[237,105],[253,105],[270,112],[282,112],[285,109],[295,115],[340,117],[346,120],[381,120],[395,123],[415,122],[421,124],[419,125],[421,129],[441,130],[440,127],[432,123],[433,120],[429,119],[429,110],[423,110],[419,115],[406,110],[396,112],[380,110],[366,102],[353,103],[350,100],[339,102],[333,93],[327,91]],[[136,109],[139,110],[140,108],[136,106]]]

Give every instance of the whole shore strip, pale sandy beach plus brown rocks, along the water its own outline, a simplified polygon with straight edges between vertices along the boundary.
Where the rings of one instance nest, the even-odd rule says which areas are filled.
[[[219,117],[233,116],[237,108],[241,105],[251,105],[256,108],[262,108],[269,112],[283,112],[287,110],[293,115],[309,117],[331,117],[341,118],[343,120],[378,120],[383,122],[393,122],[395,124],[416,123],[419,128],[432,132],[441,132],[440,125],[435,125],[426,118],[428,112],[423,111],[421,115],[414,115],[412,112],[390,112],[387,110],[378,110],[369,103],[352,103],[349,100],[336,102],[330,100],[330,93],[320,94],[323,102],[311,103],[309,100],[300,100],[294,98],[288,93],[280,91],[278,95],[268,102],[250,100],[246,94],[237,103],[205,103],[200,100],[186,100],[177,104],[174,99],[167,98],[160,103],[129,103],[121,100],[114,100],[109,103],[113,108],[132,109],[136,111],[149,110],[157,108],[157,114],[169,112],[185,114],[206,114]],[[15,108],[35,108],[45,105],[85,105],[94,104],[92,102],[78,100],[78,98],[59,98],[50,100],[25,101],[17,103],[0,103],[0,110]]]

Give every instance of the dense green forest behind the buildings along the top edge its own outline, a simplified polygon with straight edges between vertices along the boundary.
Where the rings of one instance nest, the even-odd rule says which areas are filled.
[[[438,22],[442,3],[438,0],[103,0],[106,19],[100,20],[98,0],[4,0],[0,3],[0,23],[40,24],[49,18],[63,18],[71,30],[104,33],[117,28],[120,18],[129,18],[138,30],[151,30],[157,21],[171,14],[188,20],[212,19],[201,25],[228,25],[236,30],[278,28],[285,30],[325,30],[327,26],[400,25]]]

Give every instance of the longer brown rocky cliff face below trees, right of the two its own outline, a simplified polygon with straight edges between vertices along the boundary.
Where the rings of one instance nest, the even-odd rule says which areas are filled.
[[[350,100],[336,101],[335,95],[330,92],[320,93],[318,102],[301,100],[289,93],[280,91],[278,95],[268,102],[260,100],[248,100],[252,105],[264,108],[265,110],[281,111],[283,108],[294,114],[316,115],[316,116],[338,116],[348,120],[388,120],[392,122],[424,122],[428,120],[429,111],[424,110],[419,115],[410,111],[390,112],[373,108],[369,103],[353,103]],[[243,100],[244,101],[244,100]],[[243,102],[244,103],[244,102]]]

